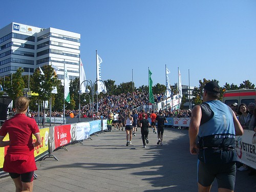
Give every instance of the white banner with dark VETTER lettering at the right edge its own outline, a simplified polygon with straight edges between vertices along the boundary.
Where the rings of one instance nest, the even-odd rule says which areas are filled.
[[[256,143],[252,143],[253,131],[244,130],[243,136],[236,136],[238,161],[256,169]]]

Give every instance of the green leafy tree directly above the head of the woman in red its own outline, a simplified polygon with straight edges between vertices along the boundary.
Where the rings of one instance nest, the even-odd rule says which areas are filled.
[[[12,75],[12,79],[10,76],[6,77],[5,90],[12,100],[24,95],[25,82],[22,77],[23,72],[24,69],[18,68],[16,73]]]

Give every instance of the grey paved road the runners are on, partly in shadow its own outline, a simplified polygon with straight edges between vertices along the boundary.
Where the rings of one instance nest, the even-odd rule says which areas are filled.
[[[125,146],[125,132],[113,131],[53,152],[37,162],[34,192],[66,191],[197,191],[197,157],[189,153],[188,131],[165,129],[163,146],[150,131],[147,148],[140,133]],[[236,190],[255,192],[256,176],[237,173]],[[12,180],[0,179],[0,191],[15,191]],[[217,191],[214,183],[211,191]]]

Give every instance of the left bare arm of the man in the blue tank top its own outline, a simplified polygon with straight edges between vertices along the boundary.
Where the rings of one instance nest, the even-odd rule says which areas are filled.
[[[199,132],[201,118],[202,118],[201,106],[197,105],[192,110],[192,116],[190,119],[190,124],[188,129],[189,145],[190,145],[189,150],[191,155],[197,154],[198,146],[197,146],[196,140]]]

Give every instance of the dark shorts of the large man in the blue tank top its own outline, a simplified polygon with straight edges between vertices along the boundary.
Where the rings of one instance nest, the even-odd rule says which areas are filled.
[[[236,163],[205,164],[198,160],[198,183],[208,187],[214,182],[215,178],[218,182],[218,188],[234,190]]]

